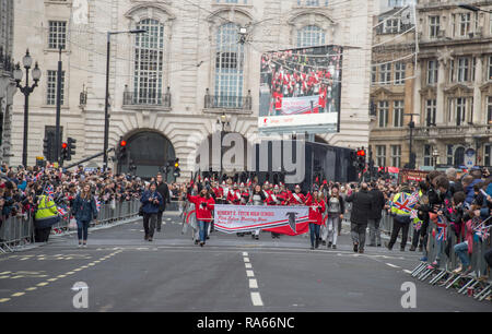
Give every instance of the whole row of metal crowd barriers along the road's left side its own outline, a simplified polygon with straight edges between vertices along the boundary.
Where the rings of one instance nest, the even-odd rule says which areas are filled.
[[[138,199],[110,204],[101,204],[97,219],[91,227],[106,226],[138,215],[140,201]],[[51,235],[70,232],[70,213],[51,226]],[[34,222],[31,216],[14,216],[5,219],[0,227],[0,252],[12,252],[34,242]]]

